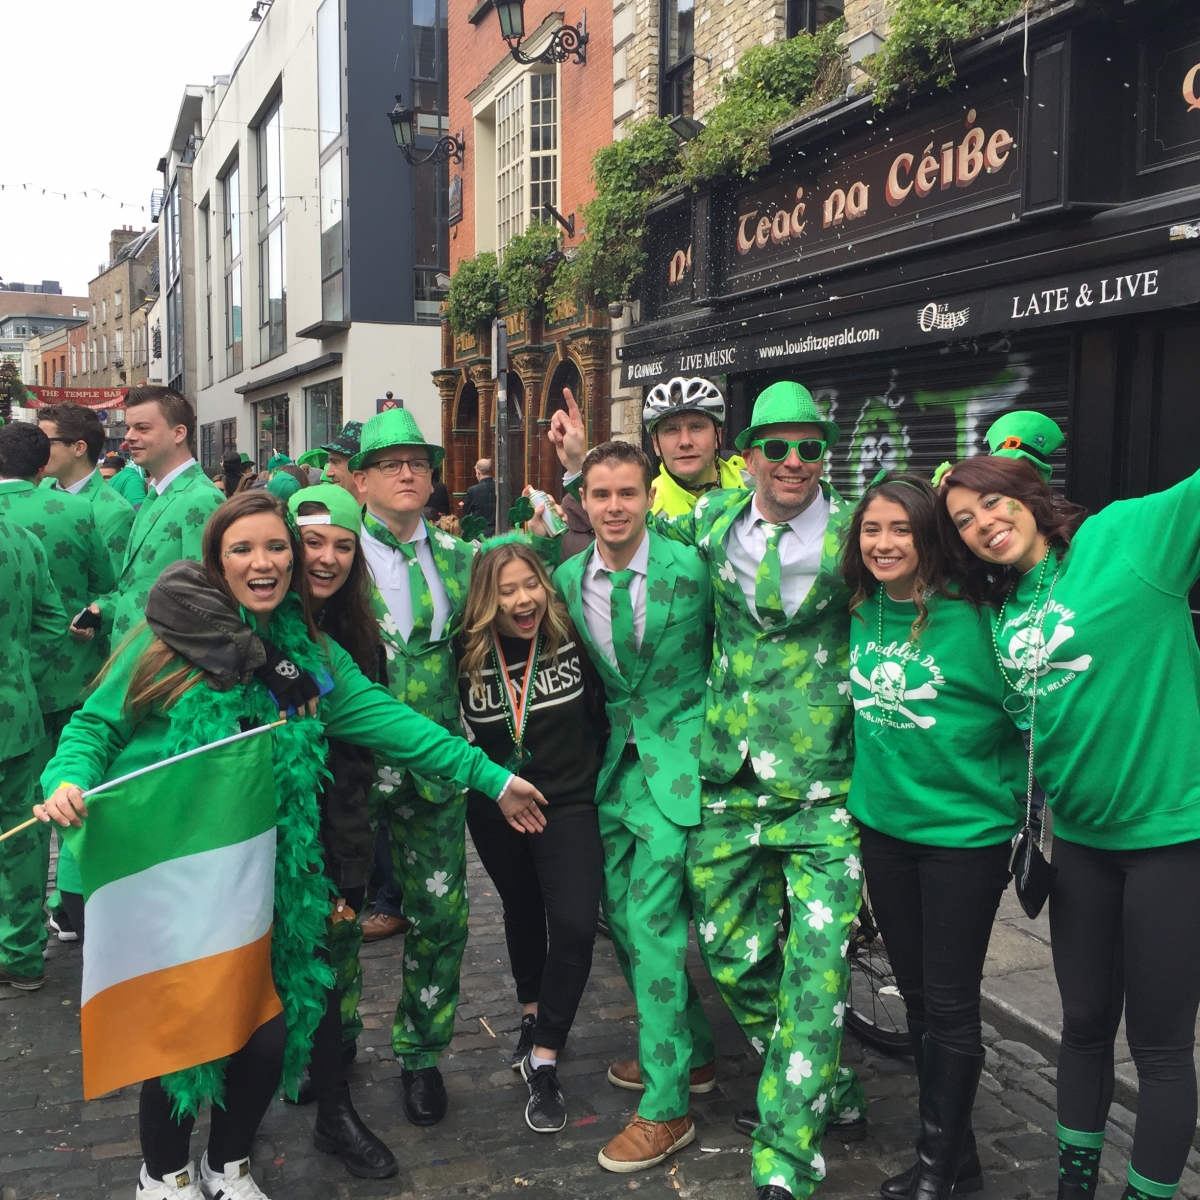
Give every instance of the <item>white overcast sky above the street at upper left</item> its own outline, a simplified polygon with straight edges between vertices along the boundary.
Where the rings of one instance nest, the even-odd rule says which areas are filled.
[[[5,283],[58,280],[66,294],[86,295],[88,281],[108,257],[109,232],[150,226],[150,191],[162,186],[155,166],[184,86],[229,72],[257,28],[252,6],[253,0],[6,0]],[[89,188],[86,198],[49,194]],[[102,200],[101,192],[110,199]]]

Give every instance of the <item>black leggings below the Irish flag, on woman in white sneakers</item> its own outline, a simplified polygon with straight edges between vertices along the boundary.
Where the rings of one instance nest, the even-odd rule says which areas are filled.
[[[283,1070],[283,1042],[287,1031],[283,1014],[272,1016],[251,1034],[250,1040],[226,1064],[224,1108],[212,1105],[209,1128],[209,1166],[221,1171],[226,1163],[250,1156],[258,1124],[266,1112]],[[161,1180],[186,1166],[192,1157],[192,1126],[196,1117],[176,1121],[170,1115],[172,1099],[157,1079],[142,1085],[138,1127],[142,1157],[151,1178]]]

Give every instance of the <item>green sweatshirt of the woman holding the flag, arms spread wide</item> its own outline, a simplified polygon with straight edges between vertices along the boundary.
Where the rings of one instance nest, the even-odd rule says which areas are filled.
[[[134,719],[125,706],[130,677],[149,640],[149,630],[137,636],[71,718],[42,773],[47,796],[64,781],[86,790],[167,757],[168,716],[155,709]],[[371,683],[336,642],[326,638],[323,649],[334,690],[322,697],[317,715],[329,737],[385,752],[422,775],[499,796],[510,772]]]

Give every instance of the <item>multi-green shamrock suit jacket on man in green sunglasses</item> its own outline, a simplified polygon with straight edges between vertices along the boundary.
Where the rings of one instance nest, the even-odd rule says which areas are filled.
[[[725,553],[733,522],[754,492],[715,491],[684,516],[654,517],[668,536],[708,563],[716,640],[708,677],[701,770],[731,780],[750,758],[767,791],[805,802],[850,791],[854,708],[850,694],[850,593],[838,569],[851,510],[822,480],[829,500],[821,568],[794,616],[758,624]]]

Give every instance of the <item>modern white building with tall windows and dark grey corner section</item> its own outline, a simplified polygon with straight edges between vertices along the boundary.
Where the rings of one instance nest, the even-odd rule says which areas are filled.
[[[389,392],[436,437],[445,168],[409,167],[386,113],[395,94],[444,92],[421,80],[439,7],[275,0],[233,72],[185,92],[160,218],[163,374],[197,406],[210,470],[230,450],[295,458]]]

